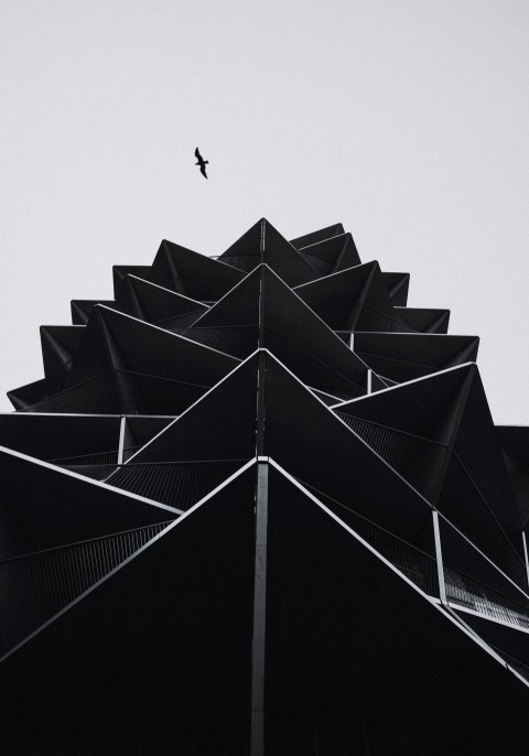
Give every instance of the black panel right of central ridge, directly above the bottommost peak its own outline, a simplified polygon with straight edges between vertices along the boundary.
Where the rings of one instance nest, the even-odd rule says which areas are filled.
[[[271,355],[266,370],[266,454],[337,510],[354,509],[420,548],[431,544],[428,503]],[[302,453],[293,439],[303,439]]]

